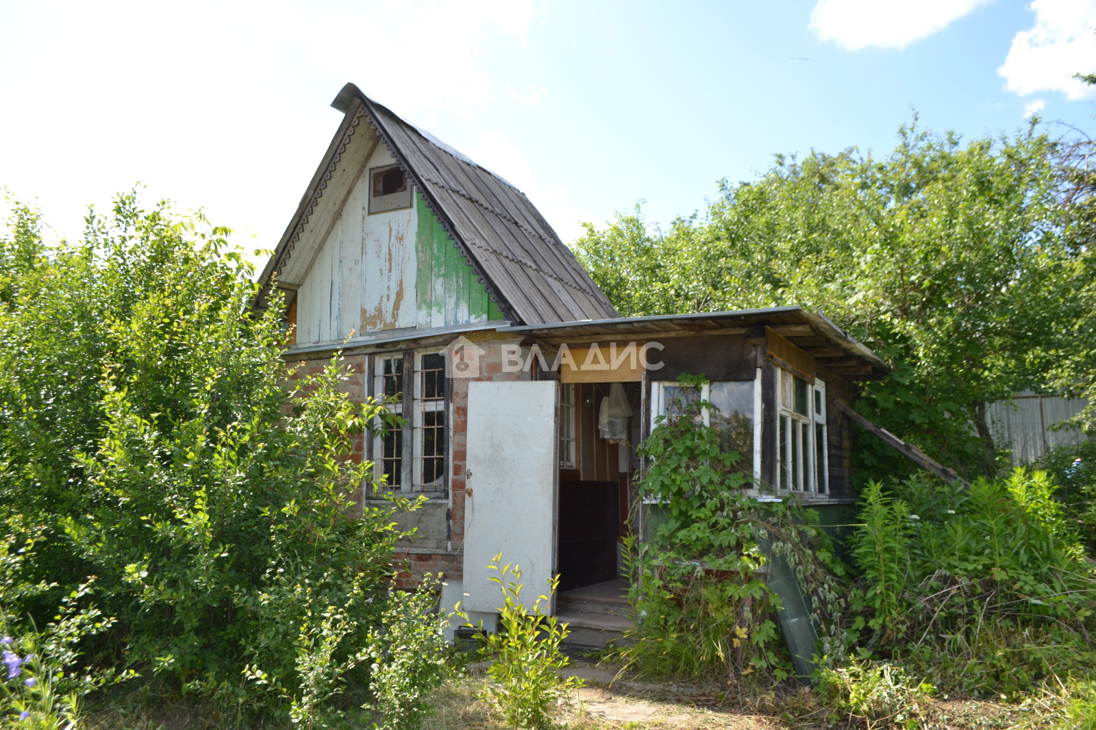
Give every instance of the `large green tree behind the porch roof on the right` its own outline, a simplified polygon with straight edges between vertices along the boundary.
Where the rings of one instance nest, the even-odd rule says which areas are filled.
[[[865,387],[865,415],[962,474],[994,474],[986,402],[1049,387],[1091,310],[1088,262],[1062,236],[1058,149],[1036,125],[964,142],[914,123],[879,159],[777,156],[666,232],[639,209],[587,226],[576,254],[624,315],[824,312],[893,367]],[[856,461],[860,481],[911,468],[870,438]]]

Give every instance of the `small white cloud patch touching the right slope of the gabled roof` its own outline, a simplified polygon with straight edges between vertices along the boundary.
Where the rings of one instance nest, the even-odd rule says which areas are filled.
[[[556,183],[538,184],[529,167],[528,156],[515,149],[510,138],[500,132],[482,135],[477,148],[468,157],[525,193],[566,243],[571,243],[585,232],[580,220],[594,219],[594,216],[568,203],[570,193],[563,186]]]

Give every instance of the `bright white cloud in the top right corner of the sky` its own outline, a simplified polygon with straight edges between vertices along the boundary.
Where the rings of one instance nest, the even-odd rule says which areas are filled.
[[[1066,99],[1093,95],[1072,78],[1096,71],[1096,0],[1035,0],[1035,25],[1013,37],[997,73],[1017,94],[1061,91]]]

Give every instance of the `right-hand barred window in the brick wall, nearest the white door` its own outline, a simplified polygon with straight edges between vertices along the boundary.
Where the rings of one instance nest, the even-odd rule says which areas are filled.
[[[445,491],[445,355],[420,354],[412,414],[413,490]]]

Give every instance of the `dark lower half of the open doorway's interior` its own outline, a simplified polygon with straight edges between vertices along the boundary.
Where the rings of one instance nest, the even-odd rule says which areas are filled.
[[[560,482],[560,591],[612,581],[617,577],[619,489],[617,481]]]

